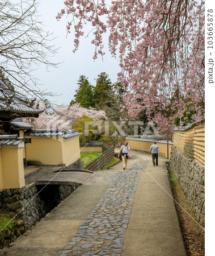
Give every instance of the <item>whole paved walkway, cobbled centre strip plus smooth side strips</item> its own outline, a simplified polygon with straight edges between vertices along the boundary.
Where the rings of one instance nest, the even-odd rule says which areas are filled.
[[[185,256],[166,159],[132,156],[126,171],[120,162],[91,174],[0,255]]]

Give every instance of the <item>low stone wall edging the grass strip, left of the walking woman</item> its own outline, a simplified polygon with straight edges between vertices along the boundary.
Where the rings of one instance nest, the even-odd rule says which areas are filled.
[[[91,163],[87,164],[85,166],[85,169],[90,171],[96,171],[101,170],[103,166],[105,166],[107,163],[111,162],[113,160],[113,154],[114,154],[114,148],[113,147],[107,147],[107,150],[102,153],[98,158],[96,158]]]

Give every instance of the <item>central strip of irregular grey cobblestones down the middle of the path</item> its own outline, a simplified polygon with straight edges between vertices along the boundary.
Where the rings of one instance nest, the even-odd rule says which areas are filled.
[[[140,164],[146,167],[146,161]],[[106,193],[60,256],[121,255],[140,171],[143,171],[142,168],[134,164],[116,174]]]

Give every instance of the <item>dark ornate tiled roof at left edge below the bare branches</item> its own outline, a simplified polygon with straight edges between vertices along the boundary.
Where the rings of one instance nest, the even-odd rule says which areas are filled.
[[[0,111],[11,111],[20,114],[40,114],[43,109],[32,108],[31,101],[21,94],[7,89],[8,86],[0,79]]]

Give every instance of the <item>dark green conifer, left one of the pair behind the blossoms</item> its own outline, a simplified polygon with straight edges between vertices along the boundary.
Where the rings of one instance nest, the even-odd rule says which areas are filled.
[[[75,90],[74,100],[71,100],[70,105],[79,103],[82,108],[94,108],[92,85],[88,82],[86,76],[80,76],[78,80],[78,89]]]

